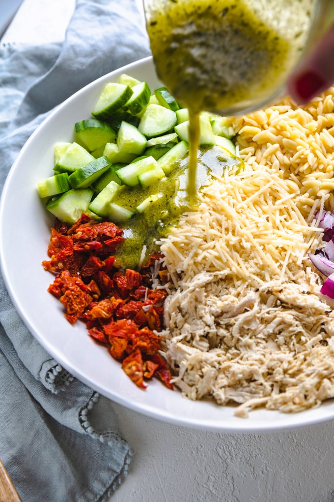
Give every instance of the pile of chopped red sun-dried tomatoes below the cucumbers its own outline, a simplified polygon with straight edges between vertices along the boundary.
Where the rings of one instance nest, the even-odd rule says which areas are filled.
[[[122,234],[114,223],[97,223],[85,213],[72,226],[56,220],[50,260],[43,262],[46,270],[57,273],[48,291],[64,305],[70,323],[80,319],[89,335],[122,361],[138,387],[145,389],[144,379],[157,375],[173,389],[157,334],[167,293],[151,288],[151,267],[162,255],[152,255],[140,272],[117,270],[113,253],[124,240]]]

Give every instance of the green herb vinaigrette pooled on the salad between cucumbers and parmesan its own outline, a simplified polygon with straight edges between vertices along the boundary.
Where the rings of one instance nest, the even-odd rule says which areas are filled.
[[[152,193],[160,198],[152,202],[143,213],[135,214],[128,222],[122,223],[123,234],[126,237],[116,253],[117,265],[123,268],[138,268],[143,246],[146,246],[146,256],[159,250],[155,240],[167,234],[171,225],[175,225],[182,213],[188,209],[188,164],[189,157],[175,163],[170,176],[156,181],[149,188],[134,187],[120,191],[113,202],[135,210]],[[238,158],[226,155],[218,147],[205,147],[198,151],[200,166],[196,179],[196,190],[209,184],[210,177],[222,177],[224,170],[238,172],[243,169],[243,162]]]

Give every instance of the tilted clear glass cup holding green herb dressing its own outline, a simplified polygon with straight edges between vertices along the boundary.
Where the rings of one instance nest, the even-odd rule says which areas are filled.
[[[194,113],[236,115],[285,93],[333,20],[332,0],[143,0],[159,78]]]

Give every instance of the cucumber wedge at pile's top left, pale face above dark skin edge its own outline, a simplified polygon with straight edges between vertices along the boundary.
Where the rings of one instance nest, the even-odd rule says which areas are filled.
[[[129,85],[109,82],[100,94],[92,115],[99,120],[108,120],[115,111],[125,105],[132,94],[133,90]]]

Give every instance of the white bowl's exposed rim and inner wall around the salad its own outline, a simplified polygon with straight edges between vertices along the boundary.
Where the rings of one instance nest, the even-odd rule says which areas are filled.
[[[190,401],[157,380],[136,387],[121,366],[88,336],[82,323],[71,326],[62,305],[47,292],[53,281],[41,262],[47,259],[54,223],[39,199],[37,183],[52,174],[54,144],[73,141],[74,123],[90,116],[105,84],[121,73],[161,85],[151,57],[120,68],[87,85],[61,104],[28,140],[7,178],[0,204],[2,271],[16,309],[37,340],[79,380],[111,400],[166,422],[212,431],[271,432],[331,420],[334,403],[296,414],[256,410],[236,418],[232,406]],[[18,245],[19,243],[19,245]]]

